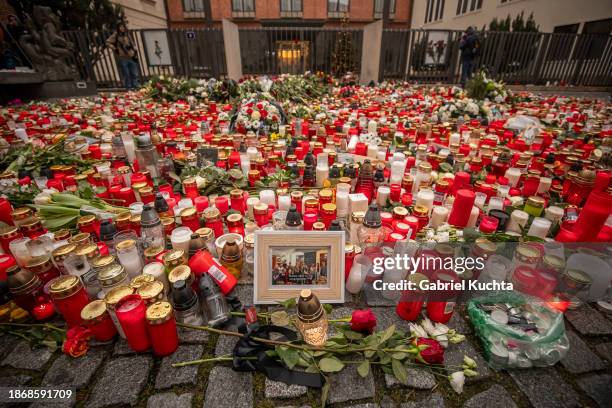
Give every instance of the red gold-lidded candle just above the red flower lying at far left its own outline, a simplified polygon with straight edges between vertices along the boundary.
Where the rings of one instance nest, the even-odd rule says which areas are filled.
[[[89,297],[78,276],[62,275],[53,279],[50,282],[49,295],[68,326],[78,326],[82,323],[81,310],[89,303]]]

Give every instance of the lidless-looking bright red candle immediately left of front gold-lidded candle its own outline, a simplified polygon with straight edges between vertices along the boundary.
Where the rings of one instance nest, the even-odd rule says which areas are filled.
[[[146,306],[140,295],[127,295],[117,303],[115,313],[130,348],[136,352],[151,347],[147,332]]]

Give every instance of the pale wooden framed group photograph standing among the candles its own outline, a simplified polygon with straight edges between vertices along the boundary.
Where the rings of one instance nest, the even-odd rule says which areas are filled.
[[[344,303],[344,232],[256,231],[255,304],[311,289],[324,303]]]

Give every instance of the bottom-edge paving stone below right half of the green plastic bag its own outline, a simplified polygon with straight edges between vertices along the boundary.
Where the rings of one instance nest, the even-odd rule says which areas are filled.
[[[578,394],[554,368],[510,370],[509,373],[535,408],[580,406]]]

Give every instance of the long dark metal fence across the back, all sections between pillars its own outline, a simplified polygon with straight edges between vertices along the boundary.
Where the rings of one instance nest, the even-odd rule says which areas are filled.
[[[99,88],[120,88],[115,56],[106,46],[110,32],[68,31],[73,62],[83,80]],[[193,78],[227,74],[220,28],[152,29],[130,32],[142,80],[153,75]],[[385,29],[381,41],[380,79],[457,83],[461,74],[459,40],[453,30]],[[348,37],[340,52],[341,38]],[[474,69],[509,84],[558,83],[612,86],[612,36],[598,34],[480,32],[481,49]],[[239,28],[244,75],[333,73],[343,55],[354,72],[361,70],[363,29],[341,27]],[[348,44],[348,45],[347,45]]]

